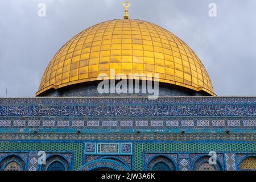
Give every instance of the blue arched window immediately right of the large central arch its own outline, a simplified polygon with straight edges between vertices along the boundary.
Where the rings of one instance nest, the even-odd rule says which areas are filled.
[[[148,171],[175,171],[175,165],[166,156],[156,156],[147,166]]]

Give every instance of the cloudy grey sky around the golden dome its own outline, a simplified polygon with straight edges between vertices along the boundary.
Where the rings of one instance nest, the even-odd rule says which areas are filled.
[[[46,17],[38,4],[46,3]],[[96,23],[123,16],[123,0],[1,0],[0,97],[35,96],[51,58]],[[203,61],[218,96],[256,95],[255,0],[131,0],[131,18],[158,24]],[[217,17],[208,15],[216,3]]]

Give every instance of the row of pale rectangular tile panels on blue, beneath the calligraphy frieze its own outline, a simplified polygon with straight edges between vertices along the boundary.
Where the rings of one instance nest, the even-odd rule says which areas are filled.
[[[18,118],[18,117],[17,117]],[[241,120],[231,121],[228,118],[201,118],[190,117],[188,120],[183,118],[162,118],[148,119],[149,121],[138,121],[136,118],[120,118],[115,121],[113,118],[85,118],[84,121],[67,121],[63,118],[55,118],[55,120],[44,120],[45,118],[37,118],[36,120],[24,117],[23,120],[17,120],[17,118],[5,117],[0,121],[0,128],[24,128],[24,129],[35,129],[35,128],[53,128],[54,129],[136,129],[138,127],[145,129],[159,129],[165,127],[166,129],[254,129],[256,128],[255,121],[248,121],[247,118],[241,118]],[[5,119],[5,120],[4,120]],[[71,118],[72,119],[72,118]],[[76,118],[74,118],[76,119]],[[161,119],[161,120],[159,120]],[[207,119],[207,120],[206,120]],[[243,120],[244,119],[244,120]],[[241,122],[240,122],[241,121]]]

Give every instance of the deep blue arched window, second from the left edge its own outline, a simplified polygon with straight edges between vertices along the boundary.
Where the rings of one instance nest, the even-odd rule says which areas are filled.
[[[69,164],[63,156],[53,155],[46,159],[46,164],[42,165],[42,171],[68,171]]]

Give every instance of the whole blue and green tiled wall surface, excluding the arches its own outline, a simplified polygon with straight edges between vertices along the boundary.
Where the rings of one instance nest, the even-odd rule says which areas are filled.
[[[67,157],[74,170],[87,154],[129,156],[135,170],[143,169],[144,154],[164,154],[185,171],[197,156],[213,150],[221,166],[232,171],[256,153],[255,117],[255,97],[86,98],[86,103],[84,98],[0,98],[0,151],[22,151],[31,171],[40,150]]]

